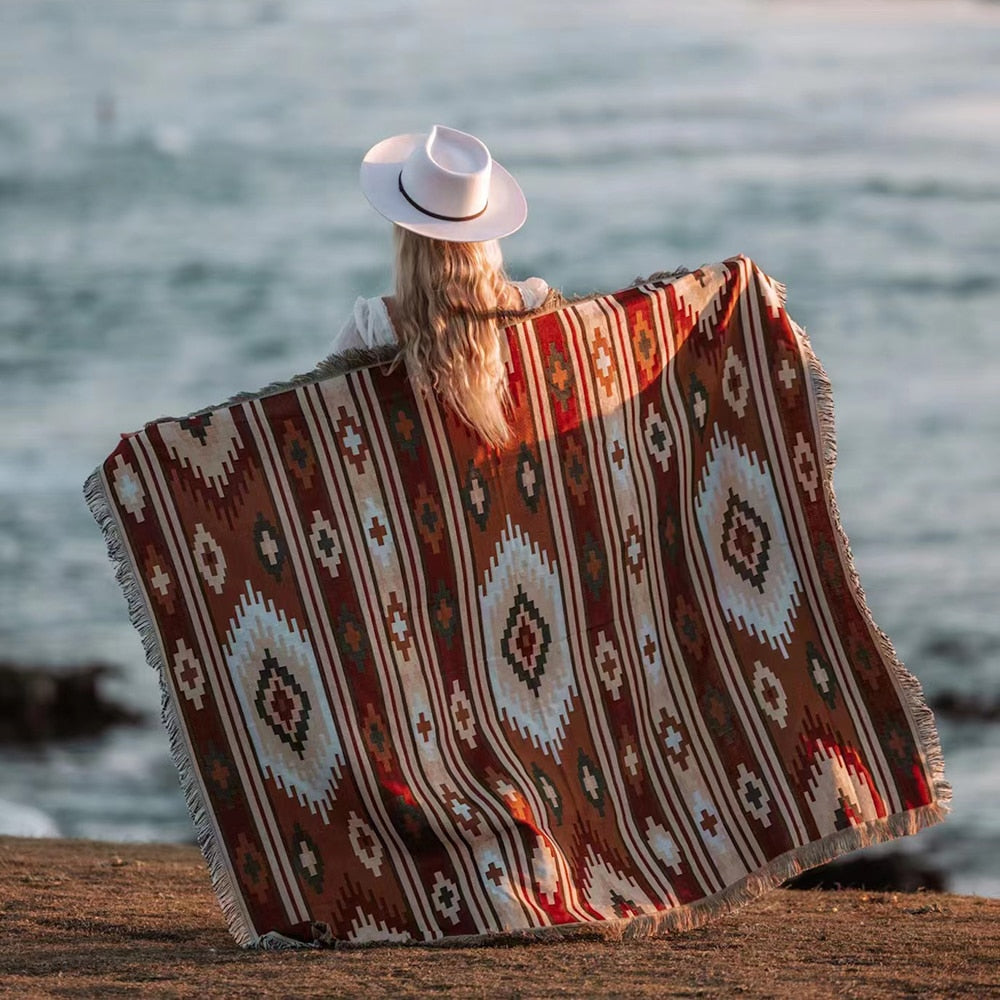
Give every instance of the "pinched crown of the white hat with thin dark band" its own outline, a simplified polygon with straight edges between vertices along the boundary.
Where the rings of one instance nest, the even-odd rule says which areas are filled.
[[[428,215],[473,219],[486,210],[492,166],[490,151],[475,136],[435,125],[403,163],[399,186]]]

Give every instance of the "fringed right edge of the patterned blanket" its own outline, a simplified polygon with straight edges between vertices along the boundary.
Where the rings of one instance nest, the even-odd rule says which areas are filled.
[[[896,691],[913,723],[914,735],[924,755],[924,761],[930,778],[931,794],[934,799],[933,805],[927,808],[936,809],[937,811],[934,820],[922,825],[931,825],[931,823],[939,822],[945,817],[950,809],[952,797],[951,784],[944,776],[944,755],[941,751],[941,739],[938,735],[937,724],[934,721],[934,713],[927,705],[920,681],[907,670],[896,653],[892,640],[878,627],[871,609],[868,607],[868,600],[861,585],[857,568],[854,565],[851,544],[847,533],[844,531],[844,526],[840,519],[840,508],[837,506],[837,497],[833,490],[833,472],[837,464],[837,435],[834,426],[833,385],[823,365],[813,352],[805,330],[794,321],[792,322],[792,328],[798,338],[803,358],[809,368],[810,396],[813,402],[813,412],[816,414],[818,421],[819,440],[823,450],[823,488],[826,492],[827,505],[840,546],[841,563],[847,574],[847,579],[857,606],[864,616],[869,631],[876,640],[883,660],[889,666],[889,674],[895,682]],[[903,831],[903,833],[908,832],[915,831]]]

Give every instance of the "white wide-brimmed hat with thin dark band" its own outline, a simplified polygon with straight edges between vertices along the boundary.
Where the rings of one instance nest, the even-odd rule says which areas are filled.
[[[372,146],[361,164],[361,190],[397,226],[435,240],[500,239],[528,216],[517,181],[486,146],[443,125]]]

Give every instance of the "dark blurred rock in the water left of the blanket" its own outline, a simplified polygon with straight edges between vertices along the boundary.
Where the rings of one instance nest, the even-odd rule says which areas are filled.
[[[141,722],[102,694],[101,678],[115,673],[105,663],[54,668],[0,661],[0,743],[75,739]]]

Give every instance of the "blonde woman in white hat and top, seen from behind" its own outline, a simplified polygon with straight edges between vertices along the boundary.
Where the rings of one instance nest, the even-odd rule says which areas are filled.
[[[359,298],[332,352],[400,344],[417,389],[437,393],[489,444],[505,443],[501,330],[549,294],[541,278],[504,274],[497,240],[527,217],[517,181],[477,138],[436,125],[373,146],[361,187],[395,223],[395,295]]]

